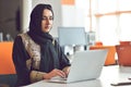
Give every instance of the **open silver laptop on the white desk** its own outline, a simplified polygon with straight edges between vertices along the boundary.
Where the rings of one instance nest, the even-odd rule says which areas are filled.
[[[68,78],[52,77],[50,83],[74,83],[99,77],[108,50],[78,51],[74,54]]]

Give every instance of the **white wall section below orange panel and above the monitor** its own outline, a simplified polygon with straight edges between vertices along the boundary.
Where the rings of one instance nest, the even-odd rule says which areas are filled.
[[[85,26],[84,10],[75,5],[62,5],[62,26]]]

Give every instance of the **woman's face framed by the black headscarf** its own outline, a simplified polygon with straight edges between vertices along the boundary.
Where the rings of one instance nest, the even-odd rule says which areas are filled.
[[[41,30],[44,33],[49,33],[49,30],[52,27],[52,21],[53,21],[52,12],[48,9],[45,9],[43,11],[43,20],[41,20]]]

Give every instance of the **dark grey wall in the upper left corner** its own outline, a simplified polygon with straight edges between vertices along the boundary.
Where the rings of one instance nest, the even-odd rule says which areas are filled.
[[[7,34],[14,38],[19,33],[19,5],[20,0],[0,0],[0,32],[3,33],[4,39]]]

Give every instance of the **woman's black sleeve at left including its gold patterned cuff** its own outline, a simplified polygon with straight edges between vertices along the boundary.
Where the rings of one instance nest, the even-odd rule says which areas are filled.
[[[19,86],[28,85],[44,79],[43,77],[46,74],[45,72],[29,70],[31,67],[28,67],[29,65],[27,64],[32,63],[31,57],[27,53],[20,36],[17,36],[14,41],[13,61],[16,69]]]

